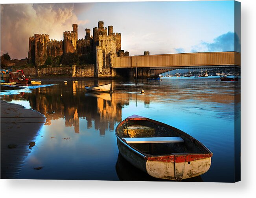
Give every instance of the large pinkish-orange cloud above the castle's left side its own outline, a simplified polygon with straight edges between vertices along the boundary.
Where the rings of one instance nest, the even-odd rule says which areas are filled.
[[[72,24],[88,22],[79,20],[76,10],[74,4],[1,4],[1,55],[27,57],[28,38],[36,33],[63,40],[63,32],[72,31]]]

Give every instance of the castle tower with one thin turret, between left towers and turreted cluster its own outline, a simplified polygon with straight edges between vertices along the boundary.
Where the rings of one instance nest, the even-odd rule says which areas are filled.
[[[77,47],[77,24],[73,24],[73,31],[63,33],[63,53],[75,53]]]

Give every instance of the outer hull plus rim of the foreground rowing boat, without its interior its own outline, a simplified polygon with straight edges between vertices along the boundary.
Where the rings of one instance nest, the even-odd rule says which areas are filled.
[[[127,118],[128,119],[128,118]],[[133,118],[134,120],[144,118]],[[176,130],[169,125],[145,118],[154,124],[160,124],[163,127]],[[118,130],[122,130],[121,125],[127,125],[126,121],[122,121],[116,127],[117,145],[120,154],[129,163],[144,171],[145,173],[155,178],[168,180],[183,180],[192,178],[206,173],[210,169],[212,153],[199,141],[195,140],[190,135],[179,131],[182,138],[188,141],[186,144],[195,144],[201,147],[203,153],[169,153],[162,155],[152,155],[141,152],[134,147],[133,144],[128,144],[122,137],[119,136]],[[127,126],[126,126],[127,127]],[[163,129],[163,128],[162,128]],[[128,130],[128,129],[127,129]],[[128,132],[127,132],[128,133]],[[173,143],[172,143],[173,144]]]

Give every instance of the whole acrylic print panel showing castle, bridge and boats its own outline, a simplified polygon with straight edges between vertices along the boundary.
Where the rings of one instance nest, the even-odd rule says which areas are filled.
[[[1,178],[237,182],[240,67],[236,1],[1,4]]]

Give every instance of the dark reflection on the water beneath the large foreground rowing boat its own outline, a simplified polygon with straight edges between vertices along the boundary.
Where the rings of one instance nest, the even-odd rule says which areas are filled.
[[[164,180],[150,176],[129,163],[118,153],[116,162],[116,174],[121,181],[155,181],[155,182],[173,182],[174,180]],[[182,182],[203,182],[201,176],[182,180]]]

